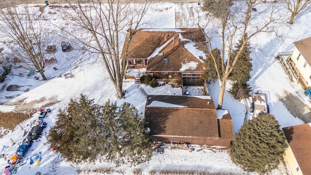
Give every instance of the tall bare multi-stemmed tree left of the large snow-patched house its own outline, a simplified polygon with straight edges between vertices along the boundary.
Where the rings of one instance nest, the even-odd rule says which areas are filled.
[[[148,0],[66,0],[75,12],[70,16],[72,24],[83,30],[90,37],[87,40],[68,32],[82,43],[84,49],[99,53],[105,69],[115,86],[119,98],[123,97],[122,82],[126,71],[126,59],[121,58],[122,41],[127,29],[138,28],[150,6]],[[135,4],[134,4],[135,3]],[[126,51],[135,32],[130,32]],[[127,55],[127,52],[126,52]]]

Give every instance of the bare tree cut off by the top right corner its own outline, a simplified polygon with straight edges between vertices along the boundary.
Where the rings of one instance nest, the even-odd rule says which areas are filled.
[[[311,0],[284,0],[284,1],[286,3],[287,9],[291,12],[291,18],[288,21],[289,24],[293,24],[294,18],[311,3]]]

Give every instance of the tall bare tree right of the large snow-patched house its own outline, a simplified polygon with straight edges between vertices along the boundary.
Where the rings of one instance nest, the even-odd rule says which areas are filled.
[[[213,59],[214,66],[217,71],[217,76],[220,82],[220,92],[218,99],[218,109],[222,109],[225,85],[228,80],[228,77],[232,70],[235,68],[240,55],[243,52],[243,49],[247,42],[259,33],[272,33],[276,32],[274,23],[277,20],[280,20],[280,17],[273,16],[273,13],[276,11],[276,7],[272,4],[267,6],[265,11],[265,17],[262,17],[261,22],[253,22],[255,17],[255,7],[260,3],[261,0],[246,0],[241,2],[242,5],[236,1],[237,4],[234,4],[228,10],[225,10],[222,15],[218,16],[220,25],[212,27],[213,29],[219,29],[217,31],[212,31],[213,29],[207,29],[207,25],[203,27],[200,25],[200,19],[198,26],[204,31],[207,38],[207,47],[209,51],[212,51],[214,40],[219,39],[222,43],[221,50],[221,61],[217,61],[217,55],[214,55],[214,52],[209,52],[210,56]],[[225,8],[227,9],[227,8]],[[210,18],[210,17],[207,17]],[[215,21],[215,20],[212,20]],[[208,24],[210,25],[210,24]],[[217,24],[215,24],[217,25]],[[205,31],[206,29],[206,31]],[[247,35],[246,35],[247,34]],[[241,47],[236,50],[234,56],[231,54],[234,50],[235,42],[240,40]]]

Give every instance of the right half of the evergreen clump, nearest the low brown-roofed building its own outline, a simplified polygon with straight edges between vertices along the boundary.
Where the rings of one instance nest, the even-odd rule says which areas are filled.
[[[120,165],[133,165],[146,162],[151,158],[151,138],[146,132],[145,119],[137,109],[128,103],[118,107],[107,102],[103,106],[103,121],[109,126],[106,140],[109,140],[107,159]]]

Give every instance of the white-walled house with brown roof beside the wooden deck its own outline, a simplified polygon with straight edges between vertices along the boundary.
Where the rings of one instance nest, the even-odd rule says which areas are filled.
[[[294,42],[291,60],[305,87],[311,86],[311,37]]]

